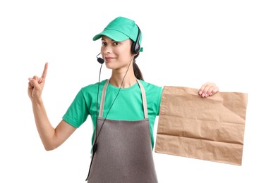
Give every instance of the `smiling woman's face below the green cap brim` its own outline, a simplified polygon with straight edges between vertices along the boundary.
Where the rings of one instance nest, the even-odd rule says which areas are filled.
[[[116,42],[109,37],[102,37],[101,53],[107,68],[117,70],[127,68],[133,58],[131,53],[131,39],[126,39],[123,42]]]

